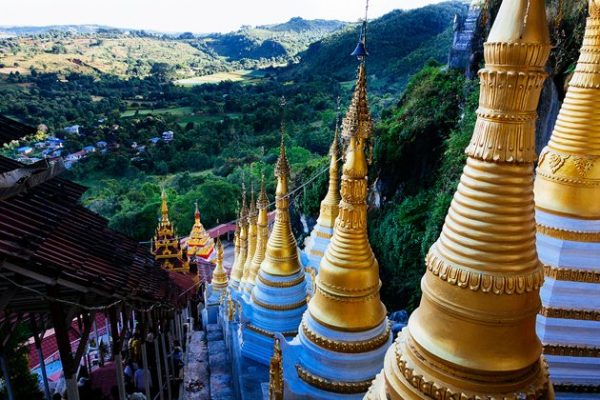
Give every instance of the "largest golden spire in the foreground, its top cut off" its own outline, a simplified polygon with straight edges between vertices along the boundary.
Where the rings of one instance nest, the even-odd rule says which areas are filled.
[[[550,40],[543,0],[504,0],[485,44],[477,122],[421,304],[367,398],[553,398],[535,332],[536,108]]]

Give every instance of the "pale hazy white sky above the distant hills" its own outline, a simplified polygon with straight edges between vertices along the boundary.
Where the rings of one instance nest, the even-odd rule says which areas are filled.
[[[369,18],[440,0],[371,0]],[[0,26],[100,24],[165,32],[228,32],[291,17],[356,21],[364,0],[0,0]]]

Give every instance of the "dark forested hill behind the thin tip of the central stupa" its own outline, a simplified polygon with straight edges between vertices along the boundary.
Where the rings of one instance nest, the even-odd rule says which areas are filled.
[[[408,78],[428,59],[445,62],[452,44],[454,16],[466,12],[461,2],[446,2],[403,11],[396,10],[369,23],[368,49],[370,75],[382,79],[381,86],[404,87]],[[354,76],[354,64],[348,62],[348,49],[358,39],[358,26],[344,29],[316,43],[300,54],[302,62],[287,74],[296,78],[328,75],[339,80]]]

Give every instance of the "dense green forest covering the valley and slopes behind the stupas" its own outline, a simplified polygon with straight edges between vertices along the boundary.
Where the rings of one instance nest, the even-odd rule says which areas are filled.
[[[485,4],[477,32],[483,37],[498,4]],[[555,44],[550,82],[558,99],[543,96],[556,102],[577,57],[586,4],[553,0],[548,10]],[[369,100],[376,121],[369,234],[390,310],[410,311],[418,303],[424,256],[439,235],[472,134],[478,80],[445,65],[454,15],[465,11],[462,3],[441,3],[395,11],[369,24]],[[272,176],[281,96],[287,99],[284,119],[294,186],[327,167],[336,98],[341,97],[343,110],[353,89],[357,64],[348,54],[356,39],[356,26],[343,28],[311,44],[288,67],[251,80],[191,87],[175,84],[174,66],[162,61],[152,64],[146,76],[126,79],[34,68],[2,79],[0,113],[45,124],[49,132],[64,136],[67,152],[98,141],[114,144],[68,172],[90,187],[85,204],[107,217],[112,228],[145,241],[152,235],[164,187],[176,228],[185,235],[194,201],[205,225],[228,221],[235,217],[242,180],[250,187],[261,173]],[[62,132],[75,124],[81,126],[79,136]],[[149,142],[165,131],[174,133],[173,141]],[[15,156],[16,146],[3,151]],[[267,183],[272,198],[274,180]],[[307,234],[300,217],[309,226],[314,223],[325,188],[322,174],[294,196],[299,242]]]

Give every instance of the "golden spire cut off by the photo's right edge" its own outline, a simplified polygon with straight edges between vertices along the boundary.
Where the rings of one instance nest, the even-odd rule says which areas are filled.
[[[536,208],[600,219],[600,6],[589,2],[583,46],[535,181]]]

